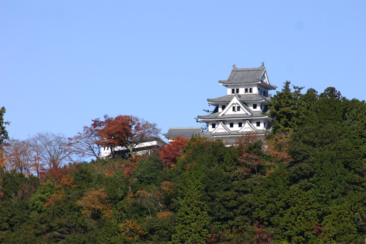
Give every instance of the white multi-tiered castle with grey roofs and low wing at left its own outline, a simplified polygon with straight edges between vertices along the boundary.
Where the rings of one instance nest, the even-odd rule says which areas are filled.
[[[272,120],[267,114],[268,92],[277,86],[269,83],[264,63],[259,68],[236,68],[234,64],[229,78],[219,80],[219,83],[227,87],[227,94],[209,98],[209,104],[215,106],[213,113],[197,117],[208,124],[208,131],[203,132],[202,128],[198,129],[200,127],[170,127],[163,136],[171,140],[179,135],[191,136],[191,132],[196,131],[201,136],[235,142],[236,138],[248,133],[266,134]]]

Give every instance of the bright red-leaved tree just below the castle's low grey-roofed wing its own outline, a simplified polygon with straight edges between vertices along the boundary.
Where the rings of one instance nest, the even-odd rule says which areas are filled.
[[[163,162],[164,168],[169,169],[177,162],[177,158],[181,157],[184,147],[187,146],[188,139],[178,136],[167,146],[162,146],[159,149],[159,159]]]

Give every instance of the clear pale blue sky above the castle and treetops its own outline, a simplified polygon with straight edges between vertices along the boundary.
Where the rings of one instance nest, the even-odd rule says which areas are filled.
[[[134,115],[201,126],[232,64],[365,100],[366,1],[0,1],[0,106],[9,135],[71,137]]]

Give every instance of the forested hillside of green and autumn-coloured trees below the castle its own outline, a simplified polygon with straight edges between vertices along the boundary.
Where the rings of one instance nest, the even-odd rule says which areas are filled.
[[[1,243],[365,243],[365,101],[290,85],[265,138],[3,168]]]

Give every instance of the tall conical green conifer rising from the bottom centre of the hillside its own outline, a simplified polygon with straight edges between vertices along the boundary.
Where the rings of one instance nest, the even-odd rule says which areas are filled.
[[[211,219],[201,200],[203,170],[199,163],[190,166],[182,176],[182,199],[179,203],[176,234],[173,243],[206,243],[210,237],[208,225]]]

